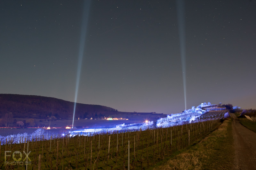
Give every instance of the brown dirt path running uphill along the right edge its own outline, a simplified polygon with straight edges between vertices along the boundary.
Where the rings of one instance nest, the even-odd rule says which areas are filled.
[[[231,115],[235,144],[234,169],[256,169],[256,133],[241,125],[236,115]]]

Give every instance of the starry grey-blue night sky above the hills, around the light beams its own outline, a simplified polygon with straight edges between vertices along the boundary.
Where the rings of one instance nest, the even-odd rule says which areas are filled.
[[[256,1],[185,1],[187,108],[256,108]],[[75,101],[83,1],[0,1],[0,93]],[[185,109],[175,1],[92,1],[77,102]]]

